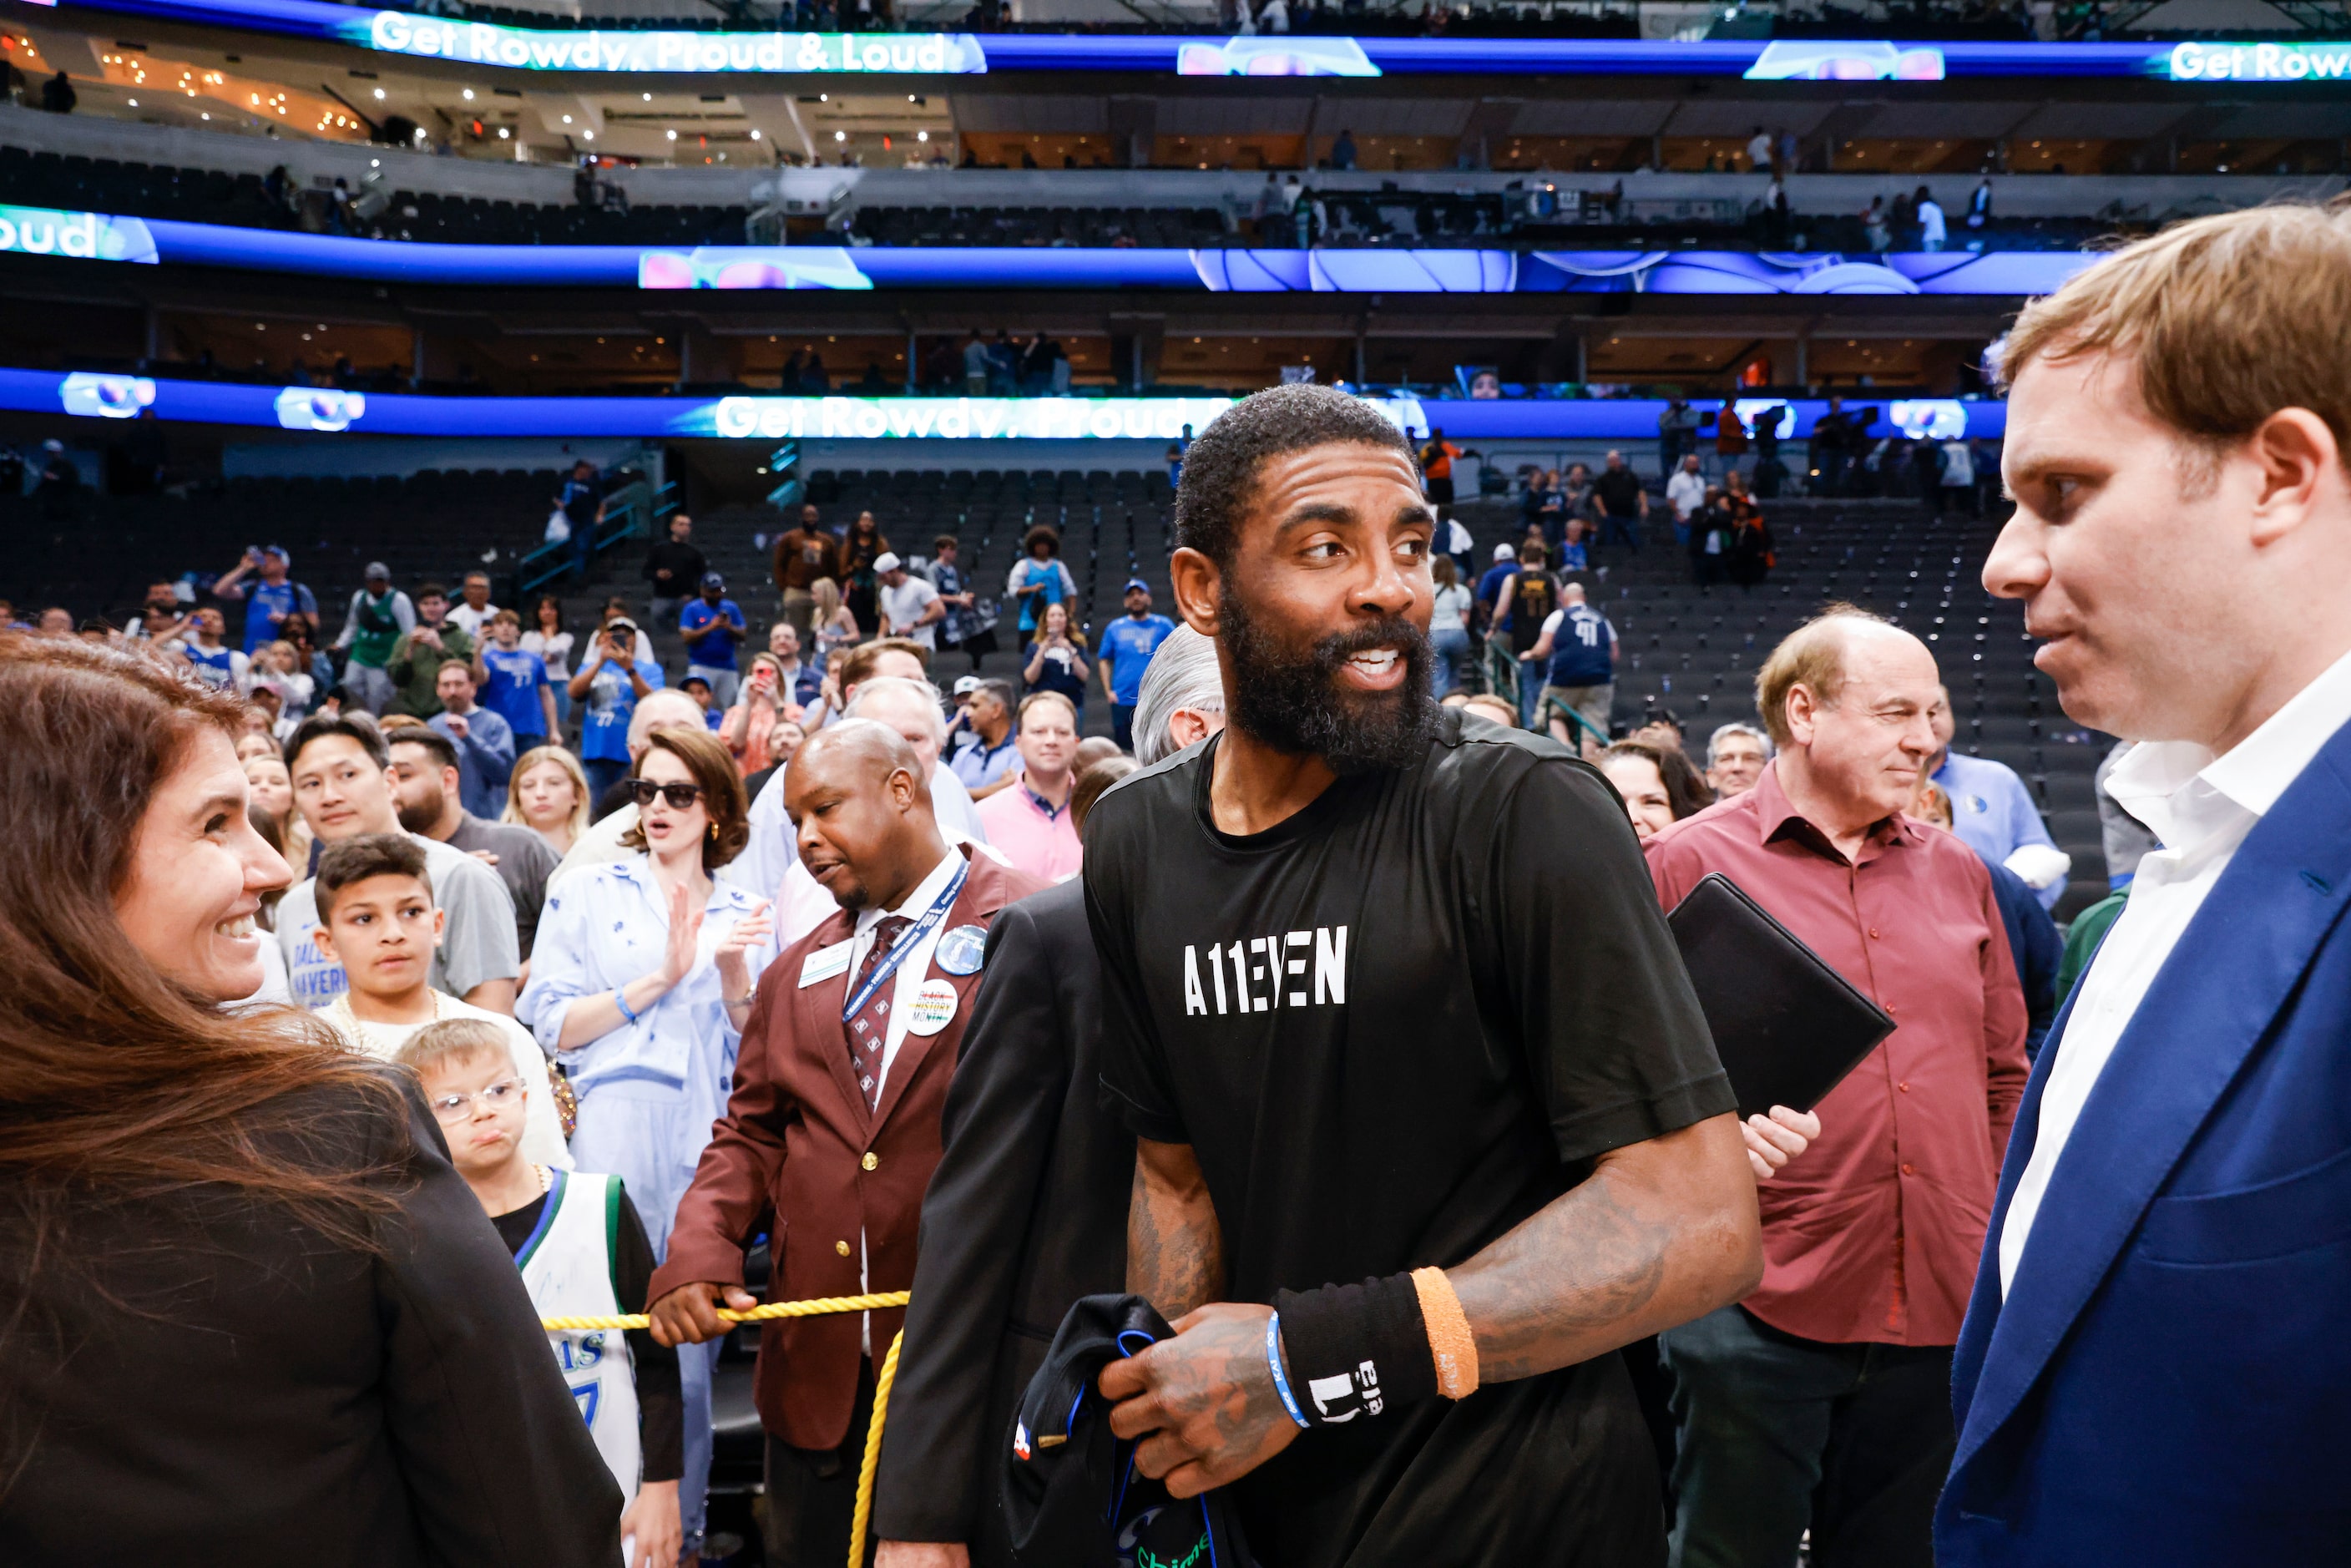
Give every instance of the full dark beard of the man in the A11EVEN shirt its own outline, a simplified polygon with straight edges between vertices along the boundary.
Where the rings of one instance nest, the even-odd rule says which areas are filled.
[[[1420,759],[1436,733],[1429,639],[1404,616],[1382,616],[1288,646],[1225,585],[1218,642],[1232,656],[1230,722],[1279,752],[1321,757],[1333,773],[1373,773]],[[1347,658],[1394,649],[1404,682],[1389,691],[1340,684]]]

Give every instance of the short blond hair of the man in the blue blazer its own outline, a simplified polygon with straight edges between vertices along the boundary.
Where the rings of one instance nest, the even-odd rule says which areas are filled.
[[[2146,411],[2205,454],[2278,409],[2309,409],[2351,451],[2351,205],[2280,202],[2172,223],[2024,306],[1998,346],[2034,360],[2137,360]]]

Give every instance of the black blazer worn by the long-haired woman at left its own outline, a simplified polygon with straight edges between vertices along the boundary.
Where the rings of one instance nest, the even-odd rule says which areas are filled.
[[[383,1258],[226,1190],[73,1215],[73,1251],[129,1312],[68,1288],[56,1340],[9,1347],[0,1450],[26,1462],[0,1493],[0,1563],[621,1561],[621,1488],[402,1079],[411,1185]],[[280,1154],[390,1152],[381,1110],[306,1095],[324,1150]]]

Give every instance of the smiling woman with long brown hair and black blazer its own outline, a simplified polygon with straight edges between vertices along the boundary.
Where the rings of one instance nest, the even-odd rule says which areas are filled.
[[[261,985],[240,703],[0,635],[0,1561],[618,1563],[414,1081]]]

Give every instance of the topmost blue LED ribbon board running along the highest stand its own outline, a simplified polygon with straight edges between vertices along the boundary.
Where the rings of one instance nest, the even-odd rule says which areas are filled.
[[[38,2],[38,0],[35,0]],[[1749,80],[2158,78],[2342,80],[2351,45],[1888,42],[1615,38],[1302,38],[1133,33],[698,33],[515,28],[324,0],[73,0],[80,9],[320,38],[381,54],[501,71],[966,75],[1131,71],[1164,75],[1733,75]],[[2182,49],[2191,49],[2184,54]],[[2299,61],[2299,63],[2297,63]]]

